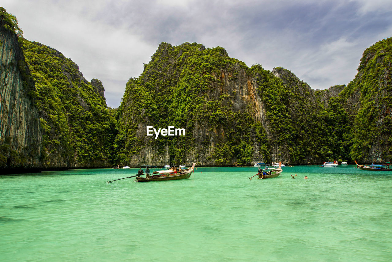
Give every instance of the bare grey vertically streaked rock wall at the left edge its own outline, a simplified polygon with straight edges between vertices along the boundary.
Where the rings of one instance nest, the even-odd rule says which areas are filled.
[[[0,16],[0,167],[7,172],[41,166],[42,130],[23,50],[5,24]]]

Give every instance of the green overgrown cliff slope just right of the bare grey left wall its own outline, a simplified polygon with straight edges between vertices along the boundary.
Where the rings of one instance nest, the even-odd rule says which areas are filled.
[[[44,130],[43,165],[108,166],[116,122],[78,66],[62,53],[22,39]]]

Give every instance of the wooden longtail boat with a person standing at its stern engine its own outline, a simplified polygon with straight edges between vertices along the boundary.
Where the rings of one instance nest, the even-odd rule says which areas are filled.
[[[178,171],[176,167],[173,167],[169,170],[156,170],[152,172],[151,175],[147,173],[145,177],[142,177],[143,173],[140,173],[139,176],[136,176],[136,182],[187,179],[192,175],[195,166],[196,163],[193,163],[192,167],[189,167],[187,169],[178,169]]]

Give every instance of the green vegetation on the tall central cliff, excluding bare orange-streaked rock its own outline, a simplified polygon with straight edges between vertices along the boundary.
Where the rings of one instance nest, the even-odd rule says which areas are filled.
[[[250,164],[254,139],[268,158],[265,130],[251,117],[250,107],[233,111],[235,93],[216,95],[220,93],[218,89],[224,88],[222,74],[234,72],[236,67],[247,68],[243,62],[227,56],[221,47],[160,44],[142,75],[127,83],[118,110],[120,162],[129,163],[145,147],[141,136],[137,136],[140,123],[156,128],[185,128],[186,136],[160,136],[152,142],[158,153],[168,146],[172,162],[185,161],[189,151],[198,147],[196,161],[212,157],[215,164],[225,165],[234,158],[240,164]],[[236,75],[230,77],[235,79]],[[200,131],[205,134],[198,134]],[[212,136],[219,139],[212,154],[207,155]]]

